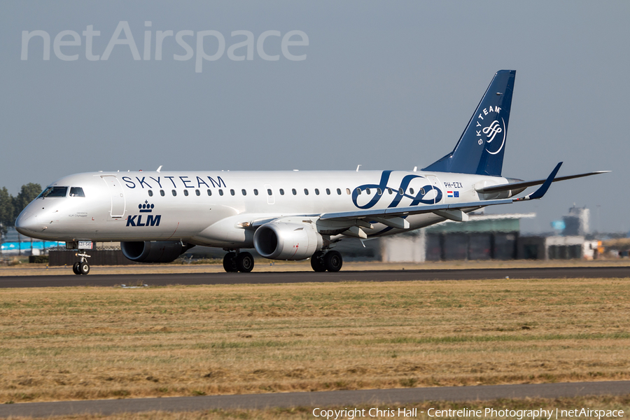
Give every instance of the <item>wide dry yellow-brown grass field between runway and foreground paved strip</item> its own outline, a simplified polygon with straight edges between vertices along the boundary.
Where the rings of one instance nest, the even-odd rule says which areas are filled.
[[[628,279],[0,293],[0,402],[630,379]]]

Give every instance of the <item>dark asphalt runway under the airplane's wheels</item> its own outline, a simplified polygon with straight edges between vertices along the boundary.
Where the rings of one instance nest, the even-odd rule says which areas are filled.
[[[70,271],[70,270],[69,270]],[[251,272],[186,274],[88,274],[78,276],[2,276],[0,288],[119,286],[120,284],[265,284],[342,281],[435,281],[481,279],[598,279],[629,278],[629,267],[542,267],[489,269],[419,269],[387,271]]]

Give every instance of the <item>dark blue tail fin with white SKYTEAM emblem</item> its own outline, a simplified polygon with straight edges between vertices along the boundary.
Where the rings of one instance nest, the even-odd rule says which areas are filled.
[[[454,151],[423,171],[500,176],[516,70],[497,71]]]

